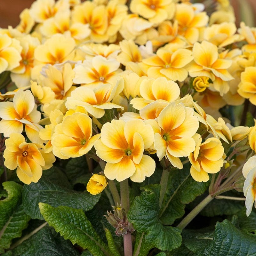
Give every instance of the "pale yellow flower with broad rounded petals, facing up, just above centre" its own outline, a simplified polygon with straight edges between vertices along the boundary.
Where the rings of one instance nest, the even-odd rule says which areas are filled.
[[[133,108],[140,110],[155,100],[172,102],[178,100],[180,87],[165,77],[145,77],[140,83],[140,95],[131,100]]]

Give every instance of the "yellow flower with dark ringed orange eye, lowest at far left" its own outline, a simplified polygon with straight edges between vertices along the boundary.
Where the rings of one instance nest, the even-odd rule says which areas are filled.
[[[46,158],[43,157],[43,151],[40,151],[43,145],[27,143],[19,133],[12,133],[10,138],[5,140],[5,146],[4,165],[10,170],[17,167],[17,176],[25,184],[37,182],[46,163],[49,169],[55,161],[51,154],[44,154]]]

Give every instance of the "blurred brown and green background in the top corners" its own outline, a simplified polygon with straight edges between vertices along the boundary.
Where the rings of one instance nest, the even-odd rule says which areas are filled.
[[[214,4],[217,0],[204,0],[195,2],[207,2]],[[219,0],[226,1],[226,0]],[[20,22],[20,12],[29,8],[34,0],[0,0],[0,27],[7,28],[9,25],[16,27]],[[230,0],[235,15],[236,25],[239,27],[240,21],[244,21],[250,27],[256,26],[256,0]]]

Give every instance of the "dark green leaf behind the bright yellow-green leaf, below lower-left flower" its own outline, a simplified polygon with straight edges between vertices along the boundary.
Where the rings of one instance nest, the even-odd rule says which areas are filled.
[[[42,177],[37,183],[24,185],[22,200],[25,212],[32,219],[43,220],[38,203],[48,203],[52,206],[67,205],[76,209],[89,211],[99,201],[99,195],[91,195],[87,191],[77,192],[54,184],[46,177]]]

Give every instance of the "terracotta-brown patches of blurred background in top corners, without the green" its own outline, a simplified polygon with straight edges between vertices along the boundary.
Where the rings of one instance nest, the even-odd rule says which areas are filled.
[[[254,13],[254,26],[256,26],[256,0],[230,0],[236,12],[236,23],[239,24],[241,19],[239,9],[243,1],[251,4]],[[29,8],[33,2],[34,0],[0,0],[0,27],[7,28],[8,25],[16,27],[20,22],[20,12]]]

